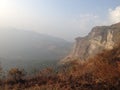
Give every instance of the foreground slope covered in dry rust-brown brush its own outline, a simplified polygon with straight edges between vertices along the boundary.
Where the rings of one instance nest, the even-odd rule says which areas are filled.
[[[20,72],[20,73],[19,73]],[[69,62],[34,76],[11,69],[1,90],[120,90],[120,46],[104,50],[84,63]]]

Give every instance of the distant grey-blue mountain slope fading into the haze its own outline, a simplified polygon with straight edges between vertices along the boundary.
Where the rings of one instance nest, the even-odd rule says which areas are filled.
[[[3,67],[31,66],[58,61],[71,43],[32,31],[0,29],[0,61]]]

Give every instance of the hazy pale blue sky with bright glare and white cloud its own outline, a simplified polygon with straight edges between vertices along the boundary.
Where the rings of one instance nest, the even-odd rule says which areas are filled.
[[[66,40],[93,26],[120,21],[120,0],[0,0],[0,27],[33,30]]]

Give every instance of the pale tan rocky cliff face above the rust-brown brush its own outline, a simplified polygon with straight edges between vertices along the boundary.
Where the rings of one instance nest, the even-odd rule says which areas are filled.
[[[62,62],[74,59],[86,60],[104,49],[112,49],[120,43],[120,23],[96,26],[85,37],[76,38],[73,51]]]

